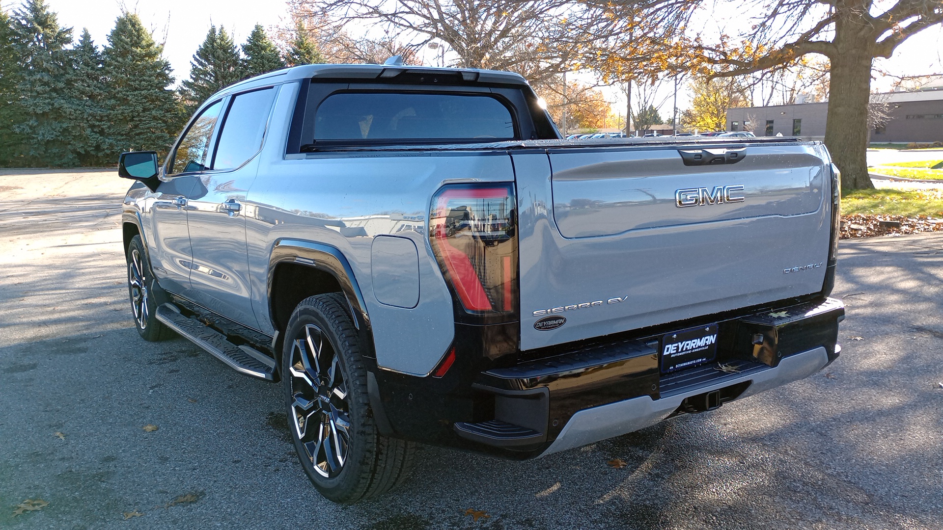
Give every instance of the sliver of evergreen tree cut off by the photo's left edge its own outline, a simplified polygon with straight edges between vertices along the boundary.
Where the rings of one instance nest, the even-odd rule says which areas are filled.
[[[20,122],[22,108],[16,90],[20,69],[11,24],[8,14],[0,8],[0,166],[17,165],[14,160],[22,145],[13,132],[13,125]]]

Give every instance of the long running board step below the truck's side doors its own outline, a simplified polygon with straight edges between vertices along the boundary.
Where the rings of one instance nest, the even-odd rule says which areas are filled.
[[[237,346],[203,323],[186,317],[171,304],[157,307],[157,320],[184,338],[217,356],[237,372],[266,381],[275,380],[275,359],[248,346]]]

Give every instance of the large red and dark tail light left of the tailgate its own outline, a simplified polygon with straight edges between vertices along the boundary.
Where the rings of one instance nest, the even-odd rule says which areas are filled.
[[[432,198],[432,250],[468,313],[517,314],[516,208],[512,184],[444,186]]]

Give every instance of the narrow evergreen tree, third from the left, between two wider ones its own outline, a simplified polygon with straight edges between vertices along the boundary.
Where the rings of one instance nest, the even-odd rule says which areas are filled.
[[[108,153],[109,116],[104,106],[108,89],[102,65],[102,54],[91,41],[88,29],[73,52],[74,70],[66,84],[68,118],[72,129],[74,150],[83,166],[103,165],[114,161]]]

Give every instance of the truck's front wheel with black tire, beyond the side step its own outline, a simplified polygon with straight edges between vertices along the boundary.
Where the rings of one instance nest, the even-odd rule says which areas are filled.
[[[164,298],[157,285],[141,236],[127,245],[127,291],[131,298],[131,316],[141,339],[157,341],[174,337],[174,331],[157,320],[157,303]]]

